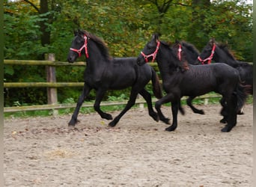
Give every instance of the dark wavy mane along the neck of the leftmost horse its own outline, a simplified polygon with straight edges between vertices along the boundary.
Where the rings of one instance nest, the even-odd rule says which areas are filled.
[[[109,49],[106,46],[106,43],[100,38],[95,36],[94,34],[91,34],[88,31],[85,30],[80,30],[80,32],[82,32],[82,34],[85,34],[87,37],[89,37],[90,40],[94,40],[94,42],[97,44],[97,46],[100,48],[100,51],[103,53],[103,56],[106,59],[112,59],[112,57],[109,55]]]

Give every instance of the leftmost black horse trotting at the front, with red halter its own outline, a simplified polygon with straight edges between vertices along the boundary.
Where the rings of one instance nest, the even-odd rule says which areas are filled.
[[[144,88],[151,80],[154,95],[156,98],[162,97],[159,79],[152,67],[148,64],[138,66],[136,63],[137,58],[135,57],[112,58],[103,40],[88,31],[77,31],[75,33],[67,61],[72,63],[82,54],[85,54],[87,61],[84,73],[85,85],[81,96],[79,96],[73,116],[68,123],[69,126],[75,126],[79,108],[92,89],[96,90],[94,110],[97,111],[102,118],[112,120],[111,114],[100,110],[100,102],[104,94],[110,89],[121,90],[132,87],[126,107],[109,123],[109,126],[115,126],[129,108],[135,104],[138,93],[147,101],[148,112],[150,116],[153,117],[153,120],[159,120],[157,113],[153,111],[151,95]]]

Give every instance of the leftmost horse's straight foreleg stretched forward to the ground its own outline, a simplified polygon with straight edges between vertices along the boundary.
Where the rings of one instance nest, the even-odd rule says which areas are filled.
[[[88,87],[88,85],[84,85],[84,88],[82,89],[82,93],[81,95],[79,96],[79,99],[76,103],[76,109],[75,111],[73,112],[73,115],[71,117],[71,120],[70,122],[68,123],[68,126],[75,126],[76,123],[77,123],[77,116],[79,114],[79,109],[81,108],[81,105],[82,103],[84,102],[85,100],[85,97],[88,96],[88,94],[90,93],[91,91],[91,88]]]

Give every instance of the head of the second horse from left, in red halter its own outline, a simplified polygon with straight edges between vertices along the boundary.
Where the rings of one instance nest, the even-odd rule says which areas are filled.
[[[153,34],[151,40],[144,46],[144,49],[141,51],[141,54],[138,55],[137,64],[142,65],[156,59],[157,52],[159,50],[160,41],[159,34]]]

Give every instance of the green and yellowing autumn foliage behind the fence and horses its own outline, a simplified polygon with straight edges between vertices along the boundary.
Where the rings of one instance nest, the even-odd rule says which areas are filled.
[[[73,31],[82,28],[102,37],[114,57],[137,56],[157,31],[162,34],[162,40],[186,40],[199,50],[211,37],[216,37],[217,41],[228,42],[237,59],[252,61],[252,4],[246,4],[245,0],[209,1],[207,6],[195,6],[192,0],[166,2],[49,0],[49,12],[40,14],[38,1],[31,1],[37,7],[34,8],[26,1],[4,0],[4,59],[37,60],[50,52],[55,53],[56,61],[66,61]],[[165,9],[161,9],[164,5]],[[42,46],[40,22],[50,32],[50,44],[46,46]],[[58,67],[57,81],[83,82],[83,71],[82,67]],[[4,82],[45,82],[45,79],[44,67],[4,66]],[[82,88],[58,89],[58,100],[74,98],[76,101],[81,91]],[[129,89],[109,91],[104,99],[122,93],[128,97]],[[88,99],[94,97],[92,92]],[[46,103],[46,89],[4,91],[4,105],[16,101]]]

